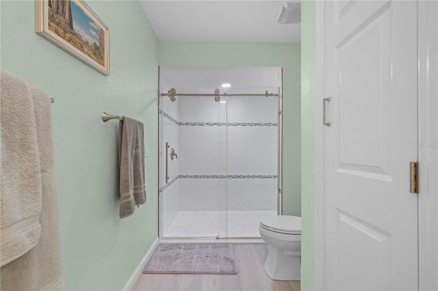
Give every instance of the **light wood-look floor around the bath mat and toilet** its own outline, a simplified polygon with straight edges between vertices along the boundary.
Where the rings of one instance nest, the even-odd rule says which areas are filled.
[[[142,274],[133,290],[300,290],[300,281],[273,281],[263,264],[266,244],[233,244],[237,275]]]

